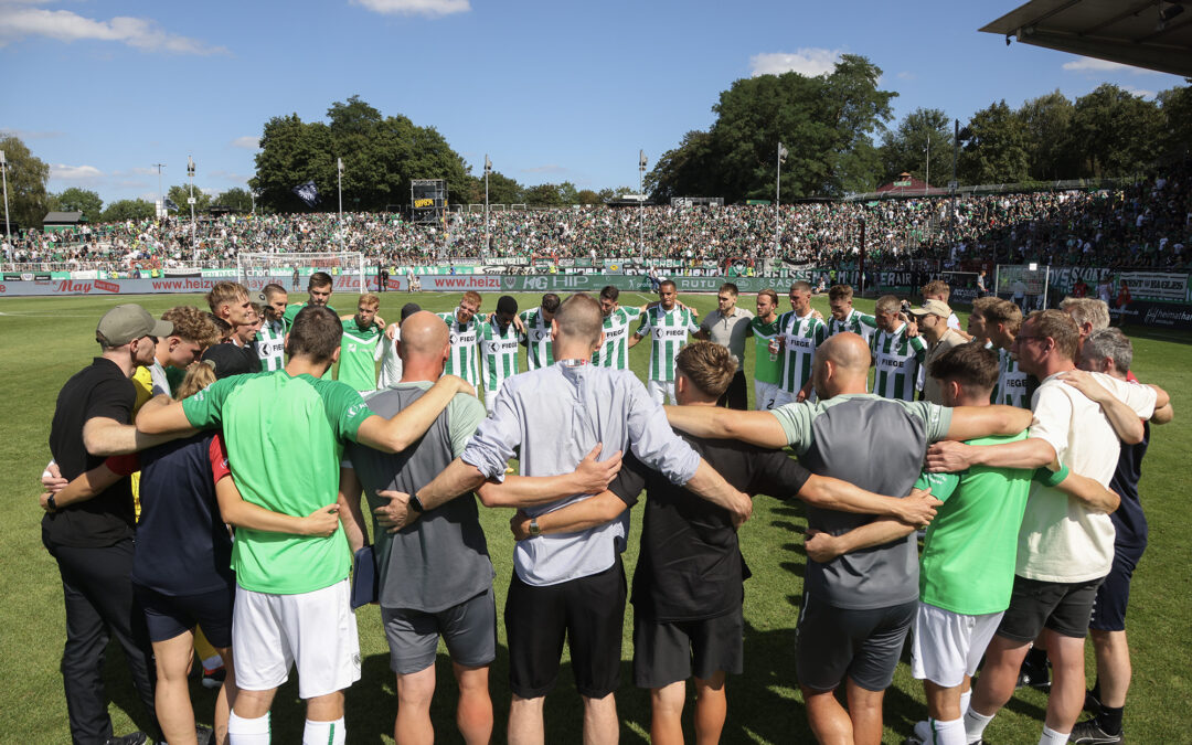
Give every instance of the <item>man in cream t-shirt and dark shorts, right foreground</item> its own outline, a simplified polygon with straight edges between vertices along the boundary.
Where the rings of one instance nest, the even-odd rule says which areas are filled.
[[[1036,311],[1014,339],[1013,352],[1023,372],[1042,383],[1035,393],[1030,437],[991,446],[942,443],[927,454],[932,471],[962,471],[976,465],[1039,467],[1058,459],[1069,471],[1106,486],[1118,460],[1120,441],[1101,408],[1063,381],[1075,368],[1080,339],[1076,323],[1058,310]],[[1142,424],[1166,393],[1097,375],[1136,412],[1137,439]],[[1161,395],[1160,395],[1161,393]],[[1132,441],[1137,439],[1131,437]],[[1010,608],[986,652],[986,664],[964,728],[970,741],[1013,695],[1026,650],[1042,632],[1054,681],[1039,743],[1068,741],[1085,694],[1084,639],[1097,588],[1113,563],[1113,522],[1104,504],[1070,499],[1055,488],[1035,483],[1018,534],[1014,588]]]

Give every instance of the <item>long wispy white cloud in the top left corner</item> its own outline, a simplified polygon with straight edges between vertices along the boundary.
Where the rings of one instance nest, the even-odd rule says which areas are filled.
[[[118,15],[111,20],[95,20],[70,11],[0,4],[0,46],[26,37],[46,37],[60,42],[83,39],[118,42],[143,51],[179,55],[211,55],[228,51],[222,46],[209,46],[198,39],[169,33],[148,18]]]

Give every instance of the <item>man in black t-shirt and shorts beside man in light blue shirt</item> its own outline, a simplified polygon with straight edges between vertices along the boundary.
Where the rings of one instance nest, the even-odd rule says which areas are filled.
[[[679,404],[715,406],[735,362],[725,347],[697,341],[678,353],[676,367]],[[927,522],[938,504],[930,496],[895,499],[814,476],[782,451],[726,440],[687,441],[746,493],[797,496],[825,508],[896,515],[909,526]],[[749,567],[732,515],[631,457],[609,491],[533,520],[520,511],[511,521],[514,535],[533,540],[532,526],[542,535],[596,527],[633,505],[642,489],[647,499],[633,576],[633,669],[638,687],[651,689],[651,740],[683,741],[684,682],[694,673],[696,739],[716,743],[727,710],[725,677],[739,675],[744,659],[741,583]]]

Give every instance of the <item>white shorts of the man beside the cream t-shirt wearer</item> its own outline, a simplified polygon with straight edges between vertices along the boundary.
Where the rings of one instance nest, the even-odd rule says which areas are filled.
[[[911,675],[943,688],[976,672],[1005,611],[964,615],[920,602],[911,626]]]

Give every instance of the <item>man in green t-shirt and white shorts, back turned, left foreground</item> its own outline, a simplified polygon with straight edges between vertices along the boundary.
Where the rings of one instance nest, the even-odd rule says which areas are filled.
[[[327,308],[304,308],[287,337],[290,360],[275,373],[236,375],[185,402],[154,399],[137,415],[148,433],[223,427],[234,482],[246,502],[304,516],[336,501],[346,441],[401,452],[458,390],[442,378],[397,416],[373,415],[360,393],[321,375],[340,354],[343,325]],[[342,530],[327,539],[237,532],[232,650],[240,694],[228,732],[267,741],[278,687],[298,666],[306,701],[304,740],[341,745],[343,689],[360,677],[355,619],[348,608],[352,555]]]

